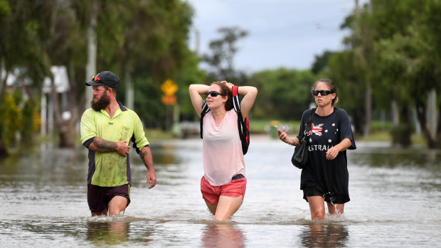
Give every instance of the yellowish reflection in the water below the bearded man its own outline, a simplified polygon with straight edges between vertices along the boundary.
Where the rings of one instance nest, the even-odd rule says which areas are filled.
[[[129,223],[87,222],[87,240],[94,244],[121,244],[129,240]]]

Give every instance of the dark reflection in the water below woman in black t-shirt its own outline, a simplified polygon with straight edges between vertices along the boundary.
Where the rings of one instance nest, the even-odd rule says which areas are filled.
[[[314,223],[300,234],[304,247],[346,247],[349,232],[344,225]]]

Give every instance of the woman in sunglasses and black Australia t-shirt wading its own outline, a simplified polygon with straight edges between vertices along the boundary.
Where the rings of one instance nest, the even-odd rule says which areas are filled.
[[[311,109],[303,112],[299,135],[287,136],[285,126],[279,131],[279,139],[293,146],[299,145],[304,135],[309,137],[308,164],[302,169],[300,189],[309,203],[312,220],[324,220],[325,207],[331,215],[341,215],[344,203],[349,202],[349,173],[346,149],[356,149],[351,122],[344,109],[334,107],[338,102],[334,82],[322,79],[312,87],[317,109],[312,128],[305,134],[305,126]]]

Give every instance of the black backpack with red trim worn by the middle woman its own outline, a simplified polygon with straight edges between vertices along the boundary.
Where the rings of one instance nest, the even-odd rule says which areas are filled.
[[[242,151],[243,155],[245,155],[248,151],[248,146],[250,146],[250,121],[248,117],[245,117],[245,120],[242,117],[242,113],[240,112],[240,101],[238,95],[238,86],[233,86],[231,89],[233,90],[233,106],[234,111],[238,114],[238,130],[240,141],[242,142]],[[206,113],[208,113],[210,109],[208,108],[207,102],[203,102],[202,112],[201,112],[201,139],[203,133],[203,117]]]

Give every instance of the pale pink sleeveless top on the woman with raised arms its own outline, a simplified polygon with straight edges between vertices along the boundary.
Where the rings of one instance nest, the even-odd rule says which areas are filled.
[[[238,131],[238,114],[227,111],[221,123],[214,122],[212,112],[203,117],[203,175],[208,183],[230,183],[237,174],[245,176],[245,162]]]

